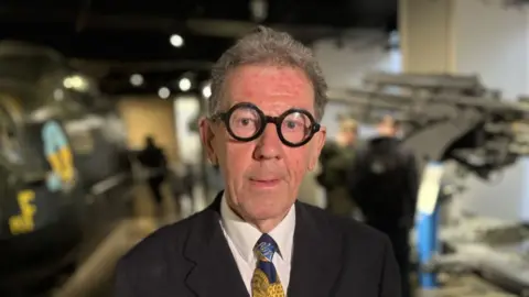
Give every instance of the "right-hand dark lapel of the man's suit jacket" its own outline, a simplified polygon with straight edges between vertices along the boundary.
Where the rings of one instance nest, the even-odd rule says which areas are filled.
[[[294,246],[288,296],[332,296],[342,268],[342,240],[325,216],[295,205]],[[317,223],[316,223],[317,221]]]

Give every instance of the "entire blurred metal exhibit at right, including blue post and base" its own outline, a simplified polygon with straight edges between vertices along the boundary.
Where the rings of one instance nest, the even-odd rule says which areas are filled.
[[[349,107],[350,116],[363,123],[375,123],[385,114],[399,120],[404,130],[402,144],[415,153],[423,179],[429,164],[455,162],[460,174],[490,180],[529,154],[529,101],[503,99],[477,76],[375,73],[365,77],[363,88],[331,90],[328,97],[334,105]],[[529,229],[474,218],[439,230],[439,218],[431,218],[440,211],[439,205],[457,199],[461,190],[441,182],[434,199],[438,207],[425,217],[418,215],[414,231],[421,287],[443,296],[483,296],[486,292],[527,296],[529,250],[523,243]],[[424,218],[430,220],[425,233]],[[424,250],[420,241],[433,243]],[[439,273],[456,275],[458,283],[443,286]],[[463,284],[462,274],[472,275],[472,282]]]

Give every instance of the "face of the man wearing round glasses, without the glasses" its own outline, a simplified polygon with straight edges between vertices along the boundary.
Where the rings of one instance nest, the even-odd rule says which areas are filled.
[[[314,114],[314,90],[305,74],[292,67],[246,65],[225,81],[222,111],[239,102],[256,105],[267,116],[290,108]],[[224,123],[201,123],[202,139],[210,161],[220,166],[228,204],[247,220],[280,219],[295,201],[303,176],[315,167],[325,141],[322,128],[300,147],[281,142],[276,125],[268,123],[260,138],[234,140]]]

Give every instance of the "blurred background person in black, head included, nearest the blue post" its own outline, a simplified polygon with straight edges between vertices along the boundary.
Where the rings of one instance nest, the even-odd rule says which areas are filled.
[[[390,117],[379,123],[379,135],[357,152],[348,186],[366,223],[391,240],[402,276],[402,297],[409,297],[409,233],[415,216],[419,182],[415,158],[396,138],[398,129]]]

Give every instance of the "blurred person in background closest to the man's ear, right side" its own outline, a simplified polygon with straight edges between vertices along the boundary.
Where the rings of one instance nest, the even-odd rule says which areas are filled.
[[[336,140],[327,142],[320,156],[322,170],[317,182],[325,188],[326,209],[346,218],[350,218],[356,210],[356,204],[349,198],[346,184],[348,166],[355,156],[357,138],[358,123],[353,119],[341,119]]]

